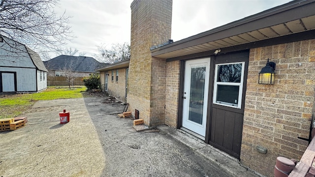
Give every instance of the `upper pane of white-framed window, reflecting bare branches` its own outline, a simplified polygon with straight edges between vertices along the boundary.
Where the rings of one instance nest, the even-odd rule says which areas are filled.
[[[242,63],[224,64],[218,66],[217,82],[240,83]]]

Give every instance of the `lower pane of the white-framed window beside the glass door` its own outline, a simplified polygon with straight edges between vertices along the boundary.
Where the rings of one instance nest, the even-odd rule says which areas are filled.
[[[217,103],[237,106],[239,88],[239,86],[218,85]]]

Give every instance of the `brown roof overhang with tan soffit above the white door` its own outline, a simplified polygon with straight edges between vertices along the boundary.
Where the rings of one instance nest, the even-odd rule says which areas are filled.
[[[252,48],[252,44],[274,45],[276,38],[315,38],[315,1],[293,0],[244,19],[211,29],[151,50],[153,57],[173,59],[197,53],[213,54]],[[302,34],[303,35],[299,35]],[[295,37],[299,40],[299,37]],[[290,39],[291,41],[293,39]],[[288,40],[288,41],[290,41]],[[266,42],[267,41],[267,42]],[[274,41],[274,43],[273,43]],[[224,50],[229,49],[229,50]]]

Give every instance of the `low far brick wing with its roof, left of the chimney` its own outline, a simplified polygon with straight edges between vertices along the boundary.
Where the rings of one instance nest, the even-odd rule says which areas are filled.
[[[129,61],[130,59],[125,59],[96,70],[100,72],[102,90],[124,102],[127,97]]]

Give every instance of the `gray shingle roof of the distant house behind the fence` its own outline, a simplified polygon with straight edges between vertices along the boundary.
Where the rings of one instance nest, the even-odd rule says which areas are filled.
[[[92,57],[61,55],[44,61],[44,64],[48,70],[63,70],[66,68],[77,72],[95,72],[99,62]]]

